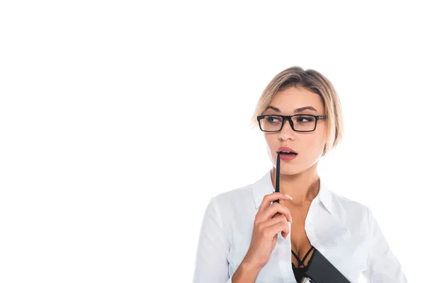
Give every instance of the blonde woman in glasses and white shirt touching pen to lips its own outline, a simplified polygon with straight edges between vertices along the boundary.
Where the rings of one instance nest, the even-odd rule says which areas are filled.
[[[361,275],[367,282],[407,282],[370,209],[331,192],[317,173],[343,132],[331,82],[311,69],[286,69],[268,83],[252,120],[273,168],[252,185],[212,197],[193,282],[300,282],[314,249],[350,282]],[[274,192],[278,154],[280,192]]]

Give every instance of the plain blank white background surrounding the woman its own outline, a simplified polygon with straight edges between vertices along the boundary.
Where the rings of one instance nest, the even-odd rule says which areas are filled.
[[[2,1],[0,282],[191,282],[210,197],[271,168],[249,119],[294,65],[344,110],[319,175],[419,282],[423,10],[358,3]]]

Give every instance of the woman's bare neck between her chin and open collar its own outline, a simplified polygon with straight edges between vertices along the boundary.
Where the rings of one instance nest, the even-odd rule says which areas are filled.
[[[276,168],[271,171],[271,182],[275,187]],[[280,174],[280,192],[293,197],[291,204],[303,206],[310,204],[319,193],[320,179],[317,174],[317,163],[306,171],[295,175]]]

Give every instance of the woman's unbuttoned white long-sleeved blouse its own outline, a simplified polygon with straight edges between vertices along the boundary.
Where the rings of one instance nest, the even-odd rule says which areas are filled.
[[[254,218],[264,195],[274,191],[271,171],[252,185],[212,197],[205,210],[193,283],[230,283],[251,243]],[[290,223],[289,223],[290,225]],[[370,209],[331,192],[320,179],[319,193],[305,219],[305,232],[350,282],[407,282]],[[290,234],[278,241],[256,282],[296,283]]]

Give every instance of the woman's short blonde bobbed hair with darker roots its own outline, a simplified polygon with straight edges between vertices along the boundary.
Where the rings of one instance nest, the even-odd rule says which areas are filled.
[[[327,115],[327,120],[325,120],[327,121],[327,139],[324,146],[324,155],[340,143],[344,125],[338,93],[336,93],[332,83],[318,71],[290,67],[277,74],[261,94],[254,115],[251,118],[251,125],[259,127],[256,117],[266,110],[276,93],[292,86],[305,88],[312,93],[317,93],[322,98],[324,115]]]

